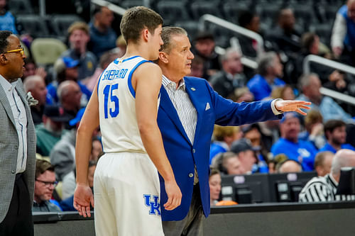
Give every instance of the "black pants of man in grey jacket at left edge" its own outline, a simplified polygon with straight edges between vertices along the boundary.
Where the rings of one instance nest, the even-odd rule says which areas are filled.
[[[16,175],[9,210],[0,223],[0,235],[33,236],[32,204],[23,174]]]

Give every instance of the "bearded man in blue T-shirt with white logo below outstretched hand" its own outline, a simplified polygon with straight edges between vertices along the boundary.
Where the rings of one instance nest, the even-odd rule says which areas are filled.
[[[298,140],[300,119],[296,113],[284,114],[280,120],[280,132],[280,139],[271,147],[273,155],[283,153],[289,159],[300,162],[304,171],[313,170],[317,150],[310,142]]]

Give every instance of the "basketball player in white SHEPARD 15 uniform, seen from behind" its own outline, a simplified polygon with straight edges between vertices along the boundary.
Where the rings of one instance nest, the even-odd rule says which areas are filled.
[[[100,125],[102,132],[105,154],[94,175],[97,235],[163,235],[158,172],[168,192],[162,207],[180,206],[182,195],[156,121],[162,73],[148,61],[158,59],[162,23],[143,6],[126,11],[121,20],[126,54],[100,76],[77,130],[74,206],[84,217],[93,203],[87,184],[92,131]]]

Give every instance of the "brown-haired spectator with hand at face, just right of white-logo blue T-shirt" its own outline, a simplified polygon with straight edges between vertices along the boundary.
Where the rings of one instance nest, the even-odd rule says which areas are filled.
[[[299,140],[311,142],[319,150],[325,145],[324,126],[322,114],[311,110],[305,117],[305,131],[298,135]]]

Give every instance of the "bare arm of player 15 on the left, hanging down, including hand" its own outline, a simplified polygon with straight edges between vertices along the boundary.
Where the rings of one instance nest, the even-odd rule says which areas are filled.
[[[97,84],[94,93],[87,103],[79,128],[75,145],[75,160],[77,168],[77,187],[74,193],[74,207],[84,217],[91,216],[90,203],[94,206],[94,197],[87,181],[89,156],[92,149],[92,133],[99,126],[99,100],[97,99]]]

